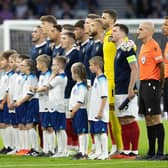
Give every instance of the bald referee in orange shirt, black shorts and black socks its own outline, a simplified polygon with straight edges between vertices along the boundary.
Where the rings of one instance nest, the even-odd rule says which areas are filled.
[[[164,160],[165,131],[161,122],[161,86],[163,86],[163,57],[159,44],[153,39],[154,25],[143,22],[137,31],[138,39],[142,41],[139,53],[139,113],[145,116],[148,137],[147,160]],[[155,144],[157,142],[157,152]]]

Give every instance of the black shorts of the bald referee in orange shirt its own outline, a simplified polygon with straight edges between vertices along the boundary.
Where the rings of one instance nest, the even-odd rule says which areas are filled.
[[[158,80],[140,81],[139,114],[161,114],[161,85]]]

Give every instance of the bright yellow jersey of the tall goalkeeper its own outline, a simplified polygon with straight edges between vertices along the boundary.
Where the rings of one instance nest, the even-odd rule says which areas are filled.
[[[116,46],[112,42],[112,30],[104,35],[103,56],[104,56],[104,74],[107,79],[114,82],[114,57],[116,54]]]

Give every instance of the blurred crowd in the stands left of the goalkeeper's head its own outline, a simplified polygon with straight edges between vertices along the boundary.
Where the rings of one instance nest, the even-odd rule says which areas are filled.
[[[0,23],[9,19],[38,19],[46,14],[58,19],[79,19],[98,8],[97,0],[0,0]]]

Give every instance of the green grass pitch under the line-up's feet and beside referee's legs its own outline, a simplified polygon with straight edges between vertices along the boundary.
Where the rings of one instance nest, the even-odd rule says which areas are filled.
[[[141,135],[139,153],[147,152],[146,127],[144,121],[139,121]],[[168,153],[168,121],[165,126],[165,153]],[[1,144],[2,147],[2,144]],[[29,156],[0,155],[0,168],[168,168],[168,161],[140,161],[140,160],[71,160],[70,158],[43,158]]]

